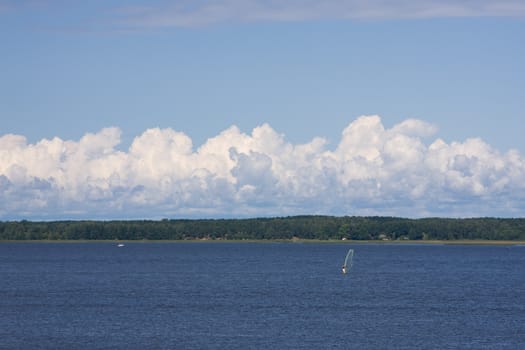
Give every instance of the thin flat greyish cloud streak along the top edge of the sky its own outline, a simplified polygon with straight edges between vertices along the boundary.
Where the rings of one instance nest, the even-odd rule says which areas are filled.
[[[131,28],[195,27],[224,22],[298,22],[401,18],[524,16],[520,0],[203,0],[149,2],[116,11]]]

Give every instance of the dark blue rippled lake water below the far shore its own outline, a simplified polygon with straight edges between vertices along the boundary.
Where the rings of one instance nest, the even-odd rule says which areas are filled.
[[[0,349],[525,349],[524,268],[522,246],[0,244]]]

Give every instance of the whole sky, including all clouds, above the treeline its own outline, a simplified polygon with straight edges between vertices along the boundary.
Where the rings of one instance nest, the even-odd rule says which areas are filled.
[[[0,0],[0,220],[523,217],[525,2]]]

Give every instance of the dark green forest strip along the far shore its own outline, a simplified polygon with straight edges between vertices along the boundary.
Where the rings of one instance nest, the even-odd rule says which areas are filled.
[[[291,216],[253,219],[6,221],[0,240],[525,240],[525,219]]]

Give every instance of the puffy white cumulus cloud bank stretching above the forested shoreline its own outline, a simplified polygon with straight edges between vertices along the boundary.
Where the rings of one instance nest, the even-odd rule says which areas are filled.
[[[148,129],[127,151],[121,131],[28,144],[0,137],[0,219],[253,217],[296,214],[523,216],[525,158],[480,139],[425,143],[436,128],[386,129],[362,116],[330,149],[291,144],[271,126],[236,126],[194,150],[172,129]]]

